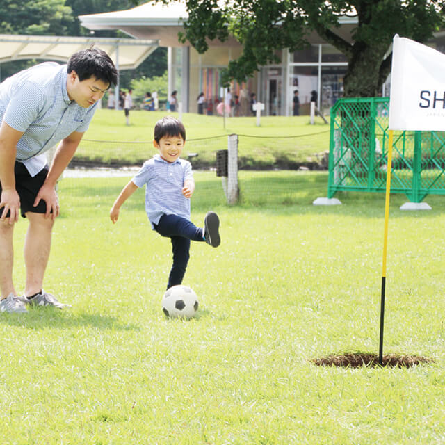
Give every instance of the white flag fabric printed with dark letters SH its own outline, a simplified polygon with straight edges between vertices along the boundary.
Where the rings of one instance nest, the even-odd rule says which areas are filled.
[[[445,54],[394,36],[389,129],[445,131]]]

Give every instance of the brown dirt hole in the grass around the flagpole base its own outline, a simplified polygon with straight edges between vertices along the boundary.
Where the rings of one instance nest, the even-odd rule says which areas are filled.
[[[312,359],[311,362],[317,366],[338,366],[341,368],[411,368],[419,364],[434,363],[433,359],[421,357],[419,355],[395,355],[389,354],[382,357],[382,364],[379,364],[377,354],[368,353],[345,353],[343,355],[328,355],[318,359]]]

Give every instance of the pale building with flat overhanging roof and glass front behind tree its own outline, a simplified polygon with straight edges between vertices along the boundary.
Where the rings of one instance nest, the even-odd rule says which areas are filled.
[[[178,103],[182,111],[197,113],[197,97],[204,92],[204,110],[216,113],[216,106],[223,101],[220,83],[221,70],[230,60],[241,55],[242,48],[234,38],[226,42],[209,42],[209,50],[198,54],[188,44],[180,44],[177,35],[187,17],[186,6],[175,3],[145,3],[136,8],[112,13],[81,15],[81,24],[90,30],[120,29],[135,38],[158,40],[161,47],[168,47],[168,97],[178,91]],[[336,33],[350,40],[350,33],[357,24],[354,17],[341,17]],[[286,49],[278,53],[280,63],[261,67],[246,83],[234,81],[232,97],[238,96],[239,115],[250,115],[246,100],[251,93],[265,104],[266,115],[292,115],[293,91],[298,88],[300,114],[309,114],[312,91],[317,92],[317,106],[329,113],[331,106],[343,95],[343,76],[348,62],[332,45],[324,42],[316,33],[309,36],[307,49],[290,53]],[[445,51],[445,36],[437,35],[434,46]],[[442,49],[441,49],[442,48]],[[389,82],[382,95],[389,94]]]

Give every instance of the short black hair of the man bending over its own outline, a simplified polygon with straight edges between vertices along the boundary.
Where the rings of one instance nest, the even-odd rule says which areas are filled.
[[[95,79],[114,86],[118,83],[118,70],[114,66],[113,60],[105,51],[99,48],[82,49],[74,53],[67,64],[67,73],[75,71],[79,76],[79,81]]]

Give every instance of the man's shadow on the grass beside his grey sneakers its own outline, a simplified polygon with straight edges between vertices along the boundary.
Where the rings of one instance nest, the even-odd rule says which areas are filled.
[[[47,328],[70,329],[72,327],[92,327],[95,329],[112,330],[140,330],[133,323],[121,323],[117,318],[102,314],[88,314],[82,312],[73,314],[70,309],[45,307],[29,309],[28,314],[0,314],[0,323],[40,330]]]

